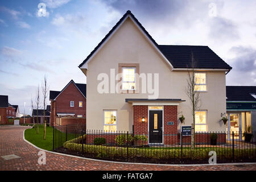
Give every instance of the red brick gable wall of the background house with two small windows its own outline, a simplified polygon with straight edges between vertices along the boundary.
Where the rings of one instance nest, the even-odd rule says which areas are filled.
[[[74,107],[70,107],[70,101],[74,101]],[[79,101],[82,101],[82,107],[79,107]],[[56,98],[56,113],[75,113],[75,117],[86,117],[86,99],[73,82]]]

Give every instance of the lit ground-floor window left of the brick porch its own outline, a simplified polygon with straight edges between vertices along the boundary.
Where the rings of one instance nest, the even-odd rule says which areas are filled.
[[[117,131],[117,111],[104,110],[104,131]]]

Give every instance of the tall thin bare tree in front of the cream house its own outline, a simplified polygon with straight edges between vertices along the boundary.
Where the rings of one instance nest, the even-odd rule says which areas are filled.
[[[192,116],[193,116],[193,125],[192,125],[192,133],[191,133],[191,147],[195,148],[195,114],[196,110],[200,108],[200,92],[197,92],[195,73],[196,73],[196,61],[194,59],[193,53],[191,53],[191,67],[187,68],[188,78],[187,78],[187,87],[186,93],[191,102],[192,106]]]

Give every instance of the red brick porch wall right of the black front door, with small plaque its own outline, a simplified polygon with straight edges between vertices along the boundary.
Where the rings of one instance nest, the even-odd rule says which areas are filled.
[[[167,125],[174,122],[174,125]],[[177,106],[164,106],[164,144],[177,143]]]

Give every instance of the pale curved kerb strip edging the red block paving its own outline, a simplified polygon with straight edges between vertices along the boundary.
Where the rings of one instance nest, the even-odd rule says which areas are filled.
[[[45,152],[49,152],[52,154],[56,154],[56,155],[63,155],[63,156],[69,156],[72,158],[78,158],[78,159],[85,159],[85,160],[93,160],[93,161],[97,161],[97,162],[104,162],[104,163],[115,163],[115,164],[130,164],[130,165],[148,165],[148,166],[170,166],[170,167],[175,167],[175,166],[180,166],[180,167],[184,167],[184,166],[234,166],[234,165],[253,165],[256,163],[220,163],[220,164],[152,164],[152,163],[128,163],[128,162],[115,162],[115,161],[110,161],[110,160],[100,160],[100,159],[90,159],[90,158],[82,158],[80,156],[75,156],[75,155],[68,155],[68,154],[62,154],[62,153],[58,153],[58,152],[52,152],[52,151],[48,151],[48,150],[44,150],[42,148],[39,148],[37,146],[35,146],[34,144],[28,142],[28,140],[25,139],[24,137],[24,133],[25,130],[23,130],[23,140],[25,142],[27,142],[28,144],[30,144],[31,146],[35,147],[38,150],[42,150]]]

